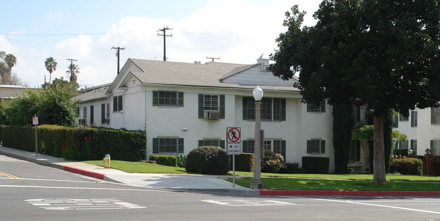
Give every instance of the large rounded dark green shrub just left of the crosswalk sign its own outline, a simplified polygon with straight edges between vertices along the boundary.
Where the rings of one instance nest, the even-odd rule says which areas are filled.
[[[185,170],[202,174],[227,174],[229,156],[220,147],[201,146],[191,150],[187,155]]]

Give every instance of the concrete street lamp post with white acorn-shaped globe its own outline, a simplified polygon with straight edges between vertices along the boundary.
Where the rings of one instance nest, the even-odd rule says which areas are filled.
[[[264,189],[264,183],[261,181],[261,98],[263,90],[259,86],[253,90],[255,99],[255,145],[253,158],[253,181],[250,187],[253,189]]]

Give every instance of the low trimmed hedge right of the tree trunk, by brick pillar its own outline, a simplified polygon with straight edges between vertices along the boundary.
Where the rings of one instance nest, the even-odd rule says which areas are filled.
[[[391,158],[390,173],[398,172],[406,175],[422,175],[423,161],[416,158]]]

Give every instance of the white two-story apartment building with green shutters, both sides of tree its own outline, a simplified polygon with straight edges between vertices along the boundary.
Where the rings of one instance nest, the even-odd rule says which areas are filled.
[[[287,163],[299,163],[300,166],[303,156],[329,157],[329,172],[334,172],[332,107],[325,101],[319,109],[301,103],[299,90],[292,86],[297,78],[283,81],[266,71],[268,64],[269,58],[264,54],[253,65],[130,58],[113,83],[85,89],[74,98],[81,99],[78,122],[146,130],[146,158],[152,154],[185,156],[201,145],[224,148],[227,127],[240,127],[242,152],[253,152],[255,104],[252,91],[260,86],[264,90],[261,129],[264,130],[265,148],[280,153]],[[354,107],[353,111],[357,122],[364,119],[365,109]],[[429,119],[422,118],[422,111],[429,110],[418,110],[418,128],[423,124],[423,130],[440,130],[440,126],[436,128],[429,124]],[[436,116],[439,116],[437,124],[440,125],[440,113]],[[408,125],[412,122],[410,119]],[[405,125],[403,120],[406,119],[399,121],[399,129]],[[417,129],[407,126],[401,132],[411,134],[408,139],[415,140],[414,145],[425,146],[430,140],[440,140],[432,138],[440,134],[438,130],[430,135],[418,133],[420,137],[415,135],[414,138]],[[368,148],[364,146],[365,151],[353,138],[349,162],[358,163],[351,164],[358,173],[370,172],[365,155]],[[422,149],[418,149],[418,154],[422,154]],[[437,152],[440,155],[440,149]]]

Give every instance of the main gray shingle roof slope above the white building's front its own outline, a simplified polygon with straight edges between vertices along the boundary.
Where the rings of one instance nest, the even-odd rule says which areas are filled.
[[[250,85],[223,83],[220,79],[231,76],[254,65],[207,62],[205,64],[130,60],[143,72],[131,72],[141,83],[180,85],[192,87],[255,88]],[[299,91],[295,87],[262,86],[266,90]]]

